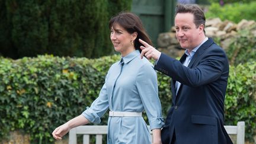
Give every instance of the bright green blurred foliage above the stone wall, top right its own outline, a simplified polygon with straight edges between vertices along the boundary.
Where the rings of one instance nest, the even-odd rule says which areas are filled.
[[[235,23],[239,23],[242,19],[256,20],[254,17],[256,15],[255,7],[255,1],[247,4],[236,2],[224,5],[223,7],[217,3],[213,3],[206,12],[206,18],[219,17],[222,21],[230,20]]]

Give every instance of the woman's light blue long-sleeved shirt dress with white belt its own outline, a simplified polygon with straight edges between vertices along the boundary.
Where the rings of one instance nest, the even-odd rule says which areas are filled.
[[[123,61],[123,62],[122,62]],[[156,72],[152,63],[139,50],[122,57],[108,70],[99,97],[87,107],[82,116],[92,123],[110,111],[146,111],[152,129],[164,126],[158,98]],[[151,143],[151,136],[143,117],[109,117],[107,143]]]

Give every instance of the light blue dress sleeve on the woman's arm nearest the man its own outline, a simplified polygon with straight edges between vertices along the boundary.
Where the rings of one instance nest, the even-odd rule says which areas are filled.
[[[162,108],[158,97],[158,83],[153,65],[146,63],[138,72],[136,86],[142,100],[143,107],[152,129],[161,129],[164,126]]]

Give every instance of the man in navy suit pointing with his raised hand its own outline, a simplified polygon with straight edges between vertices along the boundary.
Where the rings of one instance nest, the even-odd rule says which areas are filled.
[[[197,5],[178,5],[176,37],[184,55],[180,61],[140,40],[141,56],[155,59],[155,69],[172,78],[172,107],[162,143],[232,143],[224,123],[229,64],[223,49],[205,36],[205,17]]]

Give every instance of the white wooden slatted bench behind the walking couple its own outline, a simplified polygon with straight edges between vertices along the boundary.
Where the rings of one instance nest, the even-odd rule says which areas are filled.
[[[245,143],[245,122],[238,121],[236,126],[224,126],[229,135],[236,135],[236,144]],[[151,133],[152,134],[152,133]],[[76,144],[76,135],[83,135],[83,144],[89,144],[89,135],[96,135],[96,144],[102,144],[107,135],[107,126],[78,126],[69,131],[69,144]]]

